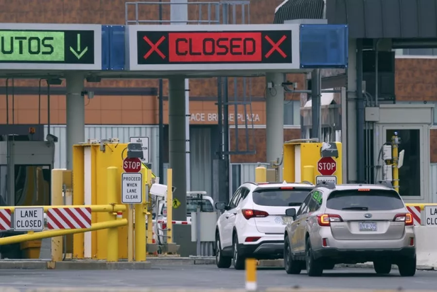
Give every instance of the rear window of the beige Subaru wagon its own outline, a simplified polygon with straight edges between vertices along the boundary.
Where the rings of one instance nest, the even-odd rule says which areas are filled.
[[[394,190],[342,190],[331,193],[326,207],[334,210],[377,211],[401,209],[404,205]]]

